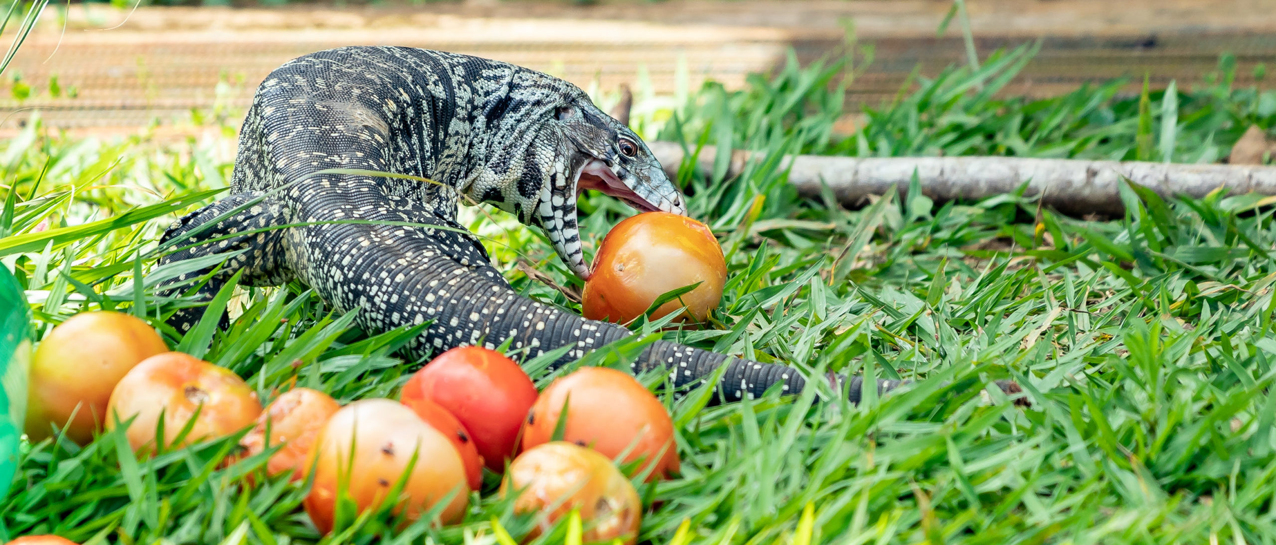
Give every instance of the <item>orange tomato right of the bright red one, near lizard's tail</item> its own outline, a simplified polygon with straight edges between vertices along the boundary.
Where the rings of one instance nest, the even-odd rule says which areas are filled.
[[[567,415],[561,415],[567,403]],[[643,458],[647,480],[678,472],[678,448],[669,411],[633,377],[609,368],[582,368],[541,392],[523,430],[523,449],[547,443],[560,417],[563,440],[624,462]],[[635,475],[637,475],[635,474]]]

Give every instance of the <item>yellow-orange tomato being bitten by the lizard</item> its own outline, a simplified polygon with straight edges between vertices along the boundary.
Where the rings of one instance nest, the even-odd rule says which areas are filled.
[[[652,319],[686,306],[690,322],[704,320],[722,300],[726,259],[704,223],[667,212],[641,213],[602,239],[581,310],[590,319],[625,323],[661,295],[697,282],[702,283],[656,309]],[[686,313],[679,319],[688,322]]]

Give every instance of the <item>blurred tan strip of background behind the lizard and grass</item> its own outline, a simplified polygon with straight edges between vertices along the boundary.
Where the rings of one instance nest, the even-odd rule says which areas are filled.
[[[1041,38],[1042,50],[1011,92],[1054,94],[1085,80],[1148,74],[1192,84],[1222,52],[1240,75],[1276,61],[1276,0],[968,0],[981,54]],[[877,61],[851,88],[852,107],[893,96],[919,64],[923,73],[961,63],[958,26],[935,29],[942,0],[666,0],[426,3],[278,9],[139,8],[78,4],[54,9],[5,74],[33,94],[4,93],[0,135],[40,110],[46,124],[128,133],[148,124],[184,130],[191,111],[248,103],[271,69],[306,52],[343,45],[403,45],[481,55],[546,70],[582,87],[638,84],[671,93],[680,71],[739,86],[781,63],[804,60],[843,41],[845,23],[877,47]],[[10,26],[13,28],[13,26]],[[6,36],[11,36],[8,31]],[[50,78],[64,93],[52,96]],[[1242,78],[1244,79],[1244,78]],[[1244,80],[1242,82],[1244,83]],[[66,91],[75,89],[74,97]]]

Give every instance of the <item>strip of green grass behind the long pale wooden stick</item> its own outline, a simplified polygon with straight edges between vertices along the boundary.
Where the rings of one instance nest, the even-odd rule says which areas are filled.
[[[1169,86],[1129,94],[1128,80],[1087,84],[1054,98],[1003,97],[999,92],[1035,55],[1034,45],[990,55],[977,70],[953,66],[914,75],[893,101],[864,105],[855,134],[836,134],[845,88],[872,61],[872,47],[799,69],[790,59],[772,78],[726,91],[707,86],[681,112],[685,126],[666,124],[662,138],[699,135],[708,143],[755,147],[782,139],[804,153],[900,156],[1022,156],[1120,161],[1216,162],[1249,125],[1276,126],[1276,91],[1235,88],[1235,57],[1222,55],[1199,89]],[[1256,77],[1262,80],[1259,65]],[[980,83],[984,83],[980,86]],[[815,114],[815,115],[813,115]],[[1171,120],[1173,123],[1165,123]],[[725,125],[725,126],[723,126]]]

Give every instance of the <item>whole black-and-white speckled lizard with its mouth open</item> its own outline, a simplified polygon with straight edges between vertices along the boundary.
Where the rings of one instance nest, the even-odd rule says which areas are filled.
[[[324,174],[333,168],[345,171]],[[160,263],[230,257],[174,278],[163,292],[207,277],[191,295],[208,301],[235,273],[249,286],[297,281],[337,309],[357,309],[365,332],[429,322],[406,346],[421,359],[507,340],[531,356],[570,346],[558,366],[633,334],[516,292],[457,222],[462,202],[541,228],[581,278],[590,276],[577,223],[582,191],[639,212],[688,213],[644,142],[577,86],[495,60],[390,46],[318,51],[265,77],[240,130],[230,185],[230,195],[165,231],[161,241],[182,249]],[[204,309],[181,308],[168,323],[185,333]],[[796,368],[664,340],[630,366],[635,374],[660,369],[685,392],[722,365],[713,403],[806,387]],[[863,377],[827,378],[860,401]],[[886,393],[905,383],[878,379],[875,387]]]

